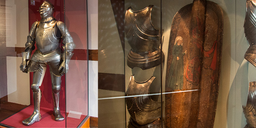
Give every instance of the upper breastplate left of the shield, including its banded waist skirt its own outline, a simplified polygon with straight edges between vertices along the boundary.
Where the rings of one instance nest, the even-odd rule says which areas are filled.
[[[124,30],[131,50],[127,56],[127,65],[150,69],[164,61],[161,51],[161,31],[156,29],[150,20],[153,5],[140,11],[133,11],[131,7],[126,10]]]

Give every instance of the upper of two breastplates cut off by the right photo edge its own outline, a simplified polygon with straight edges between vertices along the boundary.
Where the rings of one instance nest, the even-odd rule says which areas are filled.
[[[246,0],[245,37],[248,40],[249,48],[245,53],[245,59],[256,67],[256,3],[254,0]]]

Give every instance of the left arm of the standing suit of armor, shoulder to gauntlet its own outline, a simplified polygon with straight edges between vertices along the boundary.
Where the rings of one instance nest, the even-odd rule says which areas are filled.
[[[25,44],[25,51],[22,52],[22,63],[20,65],[20,69],[22,72],[28,73],[25,71],[25,68],[27,66],[27,62],[29,61],[29,58],[31,56],[31,51],[35,49],[35,32],[38,26],[38,21],[34,22],[31,26],[31,29],[29,31],[29,35],[27,37],[27,42]]]

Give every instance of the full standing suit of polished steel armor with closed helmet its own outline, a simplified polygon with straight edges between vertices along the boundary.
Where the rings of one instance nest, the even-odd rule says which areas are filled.
[[[44,1],[39,13],[41,20],[32,24],[29,36],[25,45],[25,52],[23,53],[23,61],[20,69],[23,72],[33,72],[33,83],[31,89],[33,90],[34,112],[33,114],[22,121],[24,125],[32,125],[41,119],[40,115],[40,100],[41,91],[39,88],[40,79],[46,64],[50,67],[50,74],[52,79],[52,94],[54,99],[53,114],[56,121],[64,120],[59,109],[59,98],[61,90],[61,76],[68,71],[68,63],[72,57],[71,53],[76,45],[61,21],[56,21],[53,17],[54,7],[51,2]],[[61,53],[59,40],[63,39],[62,48],[65,53]],[[34,44],[37,44],[37,50],[32,55]],[[29,61],[28,65],[27,62]]]

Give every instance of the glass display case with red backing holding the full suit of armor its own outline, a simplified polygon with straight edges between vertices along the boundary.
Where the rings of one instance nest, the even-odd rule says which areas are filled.
[[[53,17],[55,18],[49,20],[51,23],[54,22],[50,25],[48,21],[42,22],[44,20],[40,17],[40,14],[42,16],[44,13],[42,9],[49,8],[48,5],[41,6],[44,1],[2,0],[0,2],[0,126],[81,127],[88,119],[87,1],[48,0],[54,7]],[[33,29],[33,25],[37,28]],[[29,40],[29,37],[33,37],[31,36],[33,30],[36,30],[34,31],[35,39]],[[40,41],[41,37],[42,41]],[[47,41],[43,42],[44,39]],[[58,56],[61,58],[59,58],[57,70],[51,62],[57,60],[57,53],[54,54],[55,57],[48,58],[50,60],[47,61],[47,58],[44,58],[40,60],[40,64],[37,63],[40,66],[34,68],[42,68],[40,70],[42,72],[36,70],[42,77],[40,82],[36,82],[38,85],[35,87],[37,75],[33,71],[23,73],[20,69],[24,56],[22,52],[27,52],[27,45],[31,40],[32,42],[36,40],[34,41],[36,45],[30,59],[33,60],[33,55],[49,57],[50,54],[56,53],[55,49],[60,49]],[[55,40],[57,42],[54,42]],[[52,51],[47,51],[47,46],[44,45],[47,43],[51,45]],[[73,43],[75,45],[72,45]],[[72,58],[68,57],[71,52]],[[28,65],[31,65],[29,63],[32,61],[30,61]],[[60,77],[53,72],[59,71],[62,62],[63,69],[68,70],[63,70],[64,74]],[[42,66],[44,65],[42,63],[45,63],[45,66]],[[54,81],[59,84],[54,84]],[[36,91],[38,86],[40,89]],[[35,92],[38,93],[37,98],[34,98]],[[41,119],[36,120],[32,125],[29,124],[30,126],[24,126],[23,120],[30,117],[36,108],[34,106],[38,106]],[[59,109],[53,112],[54,108]],[[60,121],[54,116],[58,111],[64,120]]]

